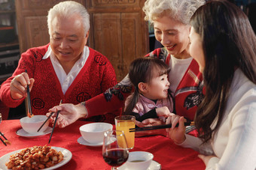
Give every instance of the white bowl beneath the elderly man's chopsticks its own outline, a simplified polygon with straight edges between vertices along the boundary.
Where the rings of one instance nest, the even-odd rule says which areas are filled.
[[[44,130],[46,130],[49,125],[49,121],[44,124],[46,119],[46,115],[34,115],[32,118],[24,117],[20,119],[20,125],[27,133],[41,133],[44,132]],[[44,126],[38,132],[38,129],[42,124],[44,124]]]

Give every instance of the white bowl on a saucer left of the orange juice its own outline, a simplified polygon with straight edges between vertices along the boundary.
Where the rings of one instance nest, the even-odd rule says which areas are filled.
[[[105,131],[112,130],[113,125],[108,123],[84,124],[79,128],[84,140],[91,144],[102,143]]]

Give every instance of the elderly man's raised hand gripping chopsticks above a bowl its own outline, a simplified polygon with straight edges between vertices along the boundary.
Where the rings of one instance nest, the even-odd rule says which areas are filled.
[[[11,80],[10,93],[14,100],[19,100],[26,97],[26,87],[29,85],[29,90],[31,91],[35,79],[29,79],[28,73],[21,73]]]

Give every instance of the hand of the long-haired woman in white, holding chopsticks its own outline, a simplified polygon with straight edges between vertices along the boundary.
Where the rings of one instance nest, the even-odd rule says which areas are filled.
[[[166,120],[166,124],[172,124],[172,128],[166,129],[168,137],[176,144],[181,144],[186,139],[184,135],[186,130],[186,127],[184,127],[184,121],[184,117],[180,117],[178,115],[172,115]],[[175,127],[176,124],[178,124],[178,127]]]

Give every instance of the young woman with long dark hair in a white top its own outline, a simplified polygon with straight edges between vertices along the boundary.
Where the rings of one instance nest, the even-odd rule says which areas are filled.
[[[200,65],[206,88],[195,118],[200,138],[184,135],[183,117],[178,128],[168,130],[169,137],[200,151],[206,169],[255,169],[254,31],[245,13],[224,0],[200,7],[191,25],[190,55]],[[177,123],[171,119],[166,123]]]

